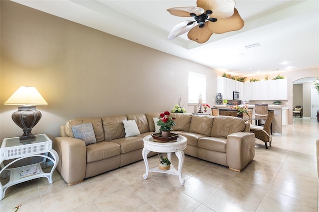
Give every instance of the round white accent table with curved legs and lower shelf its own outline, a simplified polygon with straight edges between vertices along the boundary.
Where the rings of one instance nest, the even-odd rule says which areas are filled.
[[[181,176],[181,169],[184,163],[184,152],[183,150],[186,148],[187,139],[184,136],[179,135],[177,138],[177,141],[174,142],[155,142],[153,140],[152,135],[148,135],[143,138],[144,141],[144,148],[142,151],[143,159],[145,162],[146,167],[146,173],[143,175],[144,180],[148,178],[149,172],[160,172],[160,173],[166,173],[171,175],[177,175],[179,177],[179,182],[181,185],[184,185],[185,180],[182,179]],[[155,167],[152,169],[149,169],[149,162],[148,162],[148,154],[150,151],[153,152],[160,152],[160,153],[167,153],[167,158],[170,160],[170,156],[172,152],[175,152],[175,155],[178,158],[178,171],[173,167],[173,165],[170,165],[170,169],[168,170],[160,170],[159,167]]]

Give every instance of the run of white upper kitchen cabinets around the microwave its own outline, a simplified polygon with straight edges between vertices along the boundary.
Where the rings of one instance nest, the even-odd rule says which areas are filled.
[[[241,100],[287,100],[287,79],[242,83],[226,77],[217,77],[217,93],[224,100],[233,99],[233,91]]]

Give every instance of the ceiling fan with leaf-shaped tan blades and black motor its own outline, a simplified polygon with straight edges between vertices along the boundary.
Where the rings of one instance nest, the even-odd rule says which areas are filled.
[[[172,15],[194,17],[177,23],[167,37],[171,40],[188,31],[187,37],[197,43],[205,43],[213,33],[236,31],[244,21],[235,8],[234,0],[197,0],[197,6],[173,7],[167,9]]]

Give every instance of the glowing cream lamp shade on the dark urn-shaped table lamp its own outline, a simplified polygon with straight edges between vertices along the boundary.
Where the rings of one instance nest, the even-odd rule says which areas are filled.
[[[21,86],[4,105],[48,105],[35,87]]]

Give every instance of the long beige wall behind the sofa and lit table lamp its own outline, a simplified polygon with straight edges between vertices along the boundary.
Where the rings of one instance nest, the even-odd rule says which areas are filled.
[[[1,1],[0,139],[19,136],[16,106],[3,103],[22,85],[35,86],[48,106],[34,134],[59,135],[71,118],[169,110],[178,94],[187,112],[187,72],[207,77],[207,103],[217,71],[110,34]],[[129,33],[129,32],[128,32]]]

